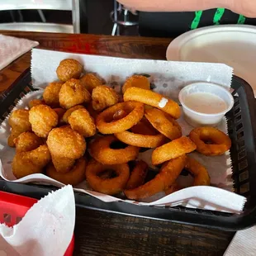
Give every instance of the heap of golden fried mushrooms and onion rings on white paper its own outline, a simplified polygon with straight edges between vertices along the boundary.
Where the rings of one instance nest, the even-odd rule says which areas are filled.
[[[73,186],[86,179],[96,192],[123,192],[130,200],[182,189],[177,179],[183,169],[193,176],[192,186],[210,186],[206,168],[187,154],[224,154],[231,140],[223,132],[199,127],[183,135],[178,103],[153,92],[143,75],[127,78],[119,95],[97,74],[83,74],[77,60],[64,59],[57,74],[60,81],[45,88],[43,99],[33,99],[30,110],[14,111],[9,119],[17,177],[32,173],[19,170],[36,159],[36,173]],[[150,164],[138,157],[148,149]]]

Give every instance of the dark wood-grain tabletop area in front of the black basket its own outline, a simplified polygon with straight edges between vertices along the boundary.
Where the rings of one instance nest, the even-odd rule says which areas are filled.
[[[223,255],[233,234],[78,209],[74,255]]]

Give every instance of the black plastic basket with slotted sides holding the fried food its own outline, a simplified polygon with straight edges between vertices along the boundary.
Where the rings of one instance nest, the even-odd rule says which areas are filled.
[[[240,215],[219,211],[191,209],[182,206],[136,206],[130,203],[103,202],[95,197],[75,192],[77,206],[97,211],[111,211],[130,216],[140,216],[158,220],[168,220],[191,225],[201,225],[220,230],[242,230],[256,223],[256,113],[252,88],[243,79],[234,77],[232,82],[235,105],[226,117],[229,135],[232,140],[230,149],[235,192],[248,198],[244,212]],[[26,70],[20,78],[0,98],[0,123],[15,103],[31,87],[31,73]],[[0,180],[0,189],[28,197],[44,197],[56,187],[35,184],[11,183]]]

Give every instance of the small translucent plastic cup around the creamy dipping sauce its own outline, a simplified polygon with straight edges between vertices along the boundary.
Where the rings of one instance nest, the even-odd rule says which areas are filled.
[[[225,102],[225,110],[208,114],[201,111],[196,111],[186,105],[186,97],[196,92],[206,92],[220,97]],[[183,106],[184,118],[188,124],[194,127],[198,126],[218,126],[220,121],[225,116],[225,113],[230,111],[234,106],[234,98],[232,94],[226,89],[215,83],[192,83],[184,87],[178,94],[179,102]],[[211,101],[211,97],[209,98]],[[211,103],[211,102],[209,102]]]

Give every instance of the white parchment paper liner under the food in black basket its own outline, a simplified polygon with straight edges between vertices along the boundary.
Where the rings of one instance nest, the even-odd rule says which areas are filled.
[[[100,74],[110,86],[113,84],[115,84],[115,86],[116,84],[121,85],[126,78],[133,73],[147,73],[150,75],[151,82],[154,83],[154,91],[163,93],[168,97],[174,97],[175,99],[178,98],[179,90],[187,85],[187,83],[207,81],[230,88],[233,72],[233,69],[225,64],[121,59],[35,49],[32,51],[31,64],[33,85],[36,88],[45,88],[47,83],[56,80],[57,76],[55,74],[55,69],[59,65],[59,61],[66,58],[78,59],[84,64],[86,70]],[[121,88],[121,86],[119,86],[119,88]],[[29,93],[18,102],[17,108],[26,107],[32,98],[41,97],[41,95],[42,92]],[[187,122],[183,120],[183,117],[181,117],[178,122],[183,128],[183,135],[188,135],[190,130],[192,130],[192,126],[187,125]],[[225,133],[227,132],[225,119],[218,128]],[[0,145],[2,145],[2,149],[0,149],[2,160],[2,167],[0,166],[1,177],[18,183],[40,182],[53,184],[57,187],[63,186],[64,184],[48,178],[43,174],[32,174],[18,180],[13,176],[11,164],[15,150],[7,146],[7,135],[9,134],[9,130],[10,127],[6,120],[2,123],[0,129]],[[139,159],[144,159],[150,165],[151,152],[152,149],[149,149],[144,153],[140,153]],[[187,187],[179,192],[168,195],[167,197],[164,197],[163,193],[159,193],[154,197],[147,198],[144,202],[126,201],[141,205],[183,205],[216,211],[243,211],[246,198],[232,192],[233,180],[231,178],[232,172],[229,152],[225,155],[216,157],[207,157],[197,154],[196,152],[191,155],[199,160],[201,164],[206,166],[211,176],[211,185],[214,187]],[[188,186],[192,183],[192,178],[180,176],[178,182]],[[88,187],[86,182],[79,184],[74,190],[88,193],[102,201],[123,201],[118,197],[111,197],[90,191],[90,187]],[[213,195],[214,198],[212,197]]]

